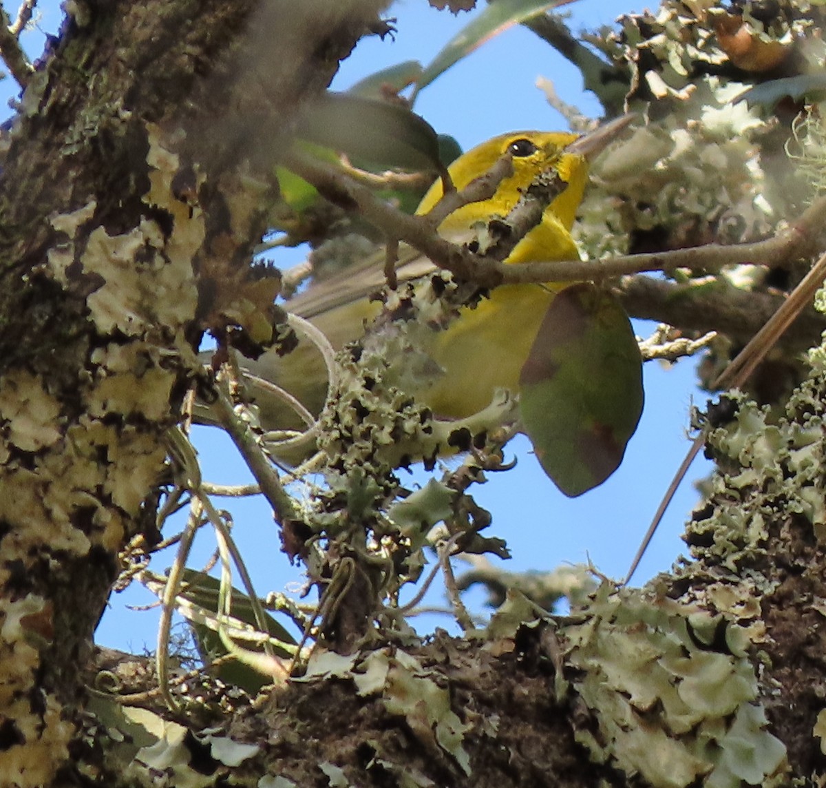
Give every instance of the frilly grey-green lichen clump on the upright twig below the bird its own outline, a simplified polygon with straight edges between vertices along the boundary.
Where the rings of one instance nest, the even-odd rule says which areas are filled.
[[[335,385],[320,414],[323,464],[313,470],[324,475],[324,485],[310,488],[302,518],[319,540],[337,541],[332,554],[356,554],[375,567],[371,577],[381,602],[396,599],[402,585],[419,578],[432,528],[455,512],[460,497],[435,482],[409,494],[396,469],[421,460],[432,465],[454,451],[481,450],[489,435],[515,419],[515,399],[504,392],[480,413],[458,421],[434,418],[409,393],[442,374],[426,348],[467,299],[460,288],[449,275],[437,273],[388,290],[372,330],[339,352]],[[312,575],[326,571],[311,566]]]

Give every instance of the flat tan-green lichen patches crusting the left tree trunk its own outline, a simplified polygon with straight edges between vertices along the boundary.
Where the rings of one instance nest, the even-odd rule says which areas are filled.
[[[150,157],[162,147],[150,130]],[[96,216],[93,200],[50,216],[59,236],[37,274],[75,298],[79,282],[97,287],[88,295],[86,345],[78,339],[75,346],[97,350],[86,368],[78,368],[74,384],[55,384],[55,390],[31,371],[3,376],[3,584],[12,572],[23,576],[35,566],[41,580],[32,587],[48,571],[55,574],[50,583],[60,588],[71,576],[65,573],[77,571],[93,547],[114,560],[163,468],[158,437],[170,418],[171,386],[194,359],[183,331],[195,315],[192,256],[202,244],[204,223],[171,192],[177,161],[160,154],[154,160],[148,199],[173,215],[166,232],[146,218],[115,235],[88,227]],[[68,369],[64,365],[64,373]],[[44,691],[43,682],[55,679],[44,680],[40,652],[55,657],[65,651],[65,644],[50,647],[58,633],[82,639],[74,630],[83,616],[70,622],[64,602],[50,604],[31,590],[13,597],[0,609],[0,686],[7,695],[0,705],[8,728],[0,774],[22,788],[51,784],[55,770],[69,762],[77,715],[66,714],[64,704]],[[67,628],[73,633],[67,635]]]

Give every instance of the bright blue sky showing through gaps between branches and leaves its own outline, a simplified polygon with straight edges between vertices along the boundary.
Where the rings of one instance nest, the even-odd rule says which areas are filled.
[[[4,3],[13,17],[17,7]],[[610,24],[621,12],[641,10],[634,0],[579,0],[567,6],[575,31]],[[56,3],[41,7],[41,26],[54,31],[59,22]],[[427,64],[434,55],[471,18],[467,13],[453,17],[437,12],[424,0],[403,0],[389,11],[397,17],[395,38],[383,41],[370,38],[359,42],[346,60],[333,84],[345,89],[351,84],[388,65],[404,60]],[[27,44],[36,54],[42,36],[34,31]],[[534,87],[539,76],[553,80],[558,94],[582,112],[595,116],[596,100],[582,93],[582,81],[576,69],[567,64],[550,47],[525,28],[515,27],[488,41],[466,60],[453,66],[434,84],[425,88],[415,109],[439,132],[453,135],[463,148],[475,145],[503,131],[529,128],[566,128],[558,112],[548,107],[544,94]],[[14,92],[11,79],[0,82],[0,107]],[[301,252],[279,252],[274,260],[285,267],[297,261]],[[637,322],[638,334],[648,335],[653,325]],[[688,412],[692,402],[705,404],[705,394],[694,386],[694,363],[682,361],[666,370],[656,363],[645,369],[646,405],[637,434],[629,444],[623,466],[600,488],[579,499],[566,499],[539,469],[529,454],[529,444],[517,439],[509,445],[518,458],[514,471],[491,475],[488,483],[474,491],[479,504],[491,510],[494,523],[488,535],[506,539],[512,559],[510,571],[549,570],[564,562],[582,562],[588,558],[605,575],[622,577],[636,552],[648,522],[657,508],[676,467],[689,447],[686,440]],[[204,465],[204,478],[222,482],[248,479],[244,467],[230,443],[215,430],[197,431],[197,447]],[[695,462],[692,476],[707,472],[707,464]],[[424,481],[417,474],[410,480]],[[657,571],[666,571],[681,552],[681,525],[696,501],[691,482],[686,481],[667,513],[657,537],[635,576],[637,583]],[[235,538],[248,556],[250,571],[259,591],[297,590],[301,575],[287,565],[278,552],[279,542],[268,508],[261,501],[219,506],[232,509]],[[199,567],[214,549],[210,534],[198,538],[191,565]],[[162,571],[160,561],[153,568]],[[458,570],[461,571],[461,565]],[[472,604],[481,611],[482,596],[473,596]],[[104,616],[97,639],[105,645],[140,650],[154,647],[157,613],[131,613],[125,604],[146,604],[153,597],[133,587],[112,599],[112,609]],[[431,592],[430,604],[444,604],[441,590]],[[449,628],[447,618],[429,618],[426,628],[439,625]]]

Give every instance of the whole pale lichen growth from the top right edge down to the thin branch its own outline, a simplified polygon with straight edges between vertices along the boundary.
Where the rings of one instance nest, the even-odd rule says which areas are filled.
[[[794,50],[816,73],[824,45],[805,5],[781,2],[763,23],[745,3],[743,16],[731,18],[742,36],[780,59]],[[723,17],[729,12],[719,2],[667,0],[657,12],[620,17],[610,36],[589,39],[627,70],[628,108],[648,117],[592,167],[574,229],[589,258],[624,253],[629,233],[654,230],[669,246],[686,239],[693,246],[709,229],[722,242],[765,237],[812,193],[806,177],[784,166],[776,117],[738,100],[751,75],[729,64],[715,28]]]

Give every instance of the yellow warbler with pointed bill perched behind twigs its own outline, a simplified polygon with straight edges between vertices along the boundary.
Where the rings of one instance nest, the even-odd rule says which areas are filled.
[[[548,131],[515,131],[496,136],[469,150],[449,167],[453,184],[464,189],[486,173],[503,155],[510,155],[512,174],[502,179],[491,198],[468,203],[449,213],[439,234],[456,242],[470,241],[479,223],[505,218],[540,173],[553,171],[563,190],[544,210],[542,220],[516,244],[506,263],[529,260],[576,260],[579,257],[570,230],[587,181],[587,156],[601,150],[615,136],[613,130],[597,131],[580,138],[576,134]],[[605,130],[606,127],[603,127]],[[582,141],[593,139],[589,146]],[[572,143],[579,140],[576,146]],[[422,199],[416,213],[428,213],[442,196],[437,181]],[[400,261],[400,281],[428,274],[435,266],[421,256]],[[286,308],[309,319],[338,349],[363,335],[365,322],[381,307],[368,295],[384,284],[382,261],[368,260],[339,275],[313,284],[305,293],[287,301]],[[515,391],[520,369],[528,355],[549,303],[561,286],[553,284],[506,284],[493,289],[490,298],[475,308],[463,308],[444,331],[434,331],[427,348],[444,374],[435,376],[421,390],[412,392],[436,416],[464,418],[485,408],[497,388]],[[327,375],[318,352],[306,340],[296,351],[279,357],[273,351],[258,361],[244,360],[244,369],[278,384],[293,394],[311,413],[324,404]],[[251,387],[259,406],[262,426],[292,427],[296,418],[266,392]]]

